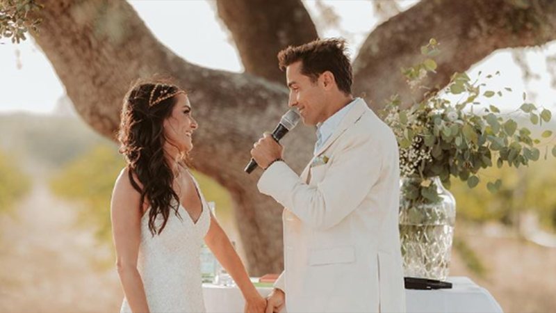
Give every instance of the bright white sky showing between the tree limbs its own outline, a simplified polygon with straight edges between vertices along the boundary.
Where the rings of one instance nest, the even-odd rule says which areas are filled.
[[[243,65],[229,32],[216,17],[214,1],[205,0],[136,0],[129,1],[149,29],[164,45],[188,62],[215,69],[242,72]],[[344,36],[350,44],[352,56],[365,40],[366,35],[379,22],[368,1],[323,1],[332,6],[341,17],[340,27],[327,26],[320,18],[316,1],[304,1],[309,13],[320,26],[322,37]],[[409,8],[416,1],[400,1],[402,8]],[[190,45],[195,42],[195,45]],[[210,51],[211,53],[206,53]],[[556,109],[556,88],[550,86],[546,56],[556,56],[556,42],[543,48],[526,49],[526,60],[539,79],[523,81],[521,69],[512,61],[509,49],[497,51],[468,71],[473,79],[479,71],[494,73],[500,70],[491,86],[510,87],[512,95],[498,99],[502,109],[515,109],[522,104],[523,91],[530,100],[548,109]],[[28,111],[51,113],[56,103],[65,95],[54,68],[33,40],[13,45],[0,39],[0,113]]]

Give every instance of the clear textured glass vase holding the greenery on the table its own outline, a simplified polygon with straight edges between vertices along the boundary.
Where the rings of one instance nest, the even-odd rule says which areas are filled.
[[[431,188],[436,186],[439,197],[436,200],[423,198],[419,192],[422,182],[420,178],[403,178],[400,186],[404,276],[444,281],[450,267],[456,202],[439,177],[431,179]],[[411,190],[414,195],[410,197]]]

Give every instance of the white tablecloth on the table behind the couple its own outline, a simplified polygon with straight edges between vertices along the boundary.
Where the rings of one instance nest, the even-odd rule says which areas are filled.
[[[450,277],[452,289],[414,290],[406,289],[407,312],[473,313],[496,312],[502,308],[486,289],[477,286],[466,277]],[[272,291],[270,287],[257,288],[262,296]],[[206,312],[243,312],[243,298],[237,287],[203,284]]]

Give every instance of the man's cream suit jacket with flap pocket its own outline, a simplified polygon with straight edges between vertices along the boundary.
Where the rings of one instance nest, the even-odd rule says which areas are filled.
[[[284,272],[293,312],[405,312],[398,230],[398,145],[356,99],[297,176],[277,161],[259,191],[284,206]]]

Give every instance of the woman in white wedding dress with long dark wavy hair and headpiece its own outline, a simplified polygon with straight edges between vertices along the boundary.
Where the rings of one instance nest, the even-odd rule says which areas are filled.
[[[202,242],[236,281],[245,312],[264,312],[236,251],[191,175],[188,152],[197,129],[185,91],[169,83],[137,83],[121,115],[126,167],[111,202],[121,312],[204,312]]]

